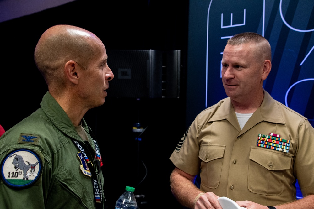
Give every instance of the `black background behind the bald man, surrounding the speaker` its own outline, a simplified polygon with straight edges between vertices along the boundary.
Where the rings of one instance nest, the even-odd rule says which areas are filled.
[[[169,157],[185,132],[188,0],[77,0],[0,23],[1,117],[5,130],[40,107],[47,87],[33,52],[41,34],[56,24],[95,33],[106,50],[181,50],[179,98],[116,98],[108,95],[85,120],[94,130],[104,162],[105,193],[113,208],[125,186],[143,194],[141,208],[180,208],[171,194]],[[108,54],[110,66],[110,54]],[[111,82],[109,82],[109,85]],[[134,123],[146,128],[138,135]],[[141,181],[142,180],[142,181]],[[156,198],[161,198],[156,202]],[[166,205],[166,206],[165,206]]]

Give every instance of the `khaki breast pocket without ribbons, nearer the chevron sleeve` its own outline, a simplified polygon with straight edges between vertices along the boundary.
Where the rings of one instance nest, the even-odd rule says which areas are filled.
[[[221,176],[222,161],[225,152],[225,145],[206,144],[201,145],[198,157],[201,161],[202,184],[208,188],[218,187]]]

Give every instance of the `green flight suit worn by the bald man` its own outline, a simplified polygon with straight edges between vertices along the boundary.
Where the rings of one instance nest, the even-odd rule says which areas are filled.
[[[0,208],[95,208],[93,180],[86,175],[89,172],[83,168],[85,161],[78,156],[82,152],[73,141],[85,145],[84,151],[93,156],[93,159],[89,159],[93,163],[89,169],[97,164],[95,147],[98,148],[98,145],[93,143],[94,139],[90,136],[84,119],[82,126],[89,142],[80,138],[62,107],[47,92],[42,99],[41,108],[3,134],[0,138]],[[15,150],[20,152],[16,154]],[[25,158],[29,155],[37,157],[38,164],[35,166],[37,159],[30,158],[32,162],[24,159],[24,163],[19,162],[17,165],[20,157],[18,153],[24,153]],[[15,162],[15,166],[11,162]],[[35,175],[38,175],[33,176],[34,173],[32,175],[25,171],[28,173],[27,176],[24,173],[23,181],[22,164],[25,167],[30,163],[36,167]],[[95,172],[103,188],[103,175],[97,168]],[[30,183],[22,187],[15,183],[13,186],[4,183],[14,182],[14,177],[22,183]],[[29,179],[26,180],[27,178]],[[104,198],[103,190],[100,192]]]

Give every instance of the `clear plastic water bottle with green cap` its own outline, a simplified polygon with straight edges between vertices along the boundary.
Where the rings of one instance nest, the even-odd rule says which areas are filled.
[[[116,201],[115,209],[137,209],[137,203],[134,196],[134,187],[125,187],[125,192]]]

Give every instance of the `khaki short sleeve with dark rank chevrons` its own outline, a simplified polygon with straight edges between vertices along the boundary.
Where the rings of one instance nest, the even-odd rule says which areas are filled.
[[[170,156],[170,160],[177,168],[190,175],[198,175],[200,170],[198,136],[197,116]]]

